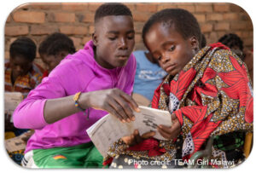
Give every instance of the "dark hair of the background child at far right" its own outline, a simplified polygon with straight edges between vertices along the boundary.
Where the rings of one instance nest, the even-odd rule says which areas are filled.
[[[225,34],[223,37],[218,39],[218,42],[223,43],[230,49],[232,49],[234,46],[237,46],[240,50],[243,49],[243,42],[241,41],[241,38],[234,33]]]

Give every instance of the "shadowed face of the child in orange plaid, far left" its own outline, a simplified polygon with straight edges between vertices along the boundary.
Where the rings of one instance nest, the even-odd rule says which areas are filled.
[[[32,67],[32,61],[27,60],[23,55],[15,55],[10,57],[10,68],[13,77],[24,76]]]

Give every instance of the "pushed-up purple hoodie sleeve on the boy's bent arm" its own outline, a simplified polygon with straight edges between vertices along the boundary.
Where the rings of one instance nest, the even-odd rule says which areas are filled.
[[[81,67],[74,64],[65,61],[61,66],[55,67],[49,77],[44,78],[36,89],[30,91],[13,114],[16,128],[38,130],[47,125],[44,119],[45,101],[67,96],[70,92],[76,92],[75,89],[79,89],[81,85],[78,72]]]

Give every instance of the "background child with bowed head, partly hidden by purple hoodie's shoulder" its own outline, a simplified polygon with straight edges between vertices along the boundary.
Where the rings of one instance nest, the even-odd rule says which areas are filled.
[[[73,40],[59,32],[50,34],[39,45],[39,55],[46,66],[44,77],[47,77],[68,54],[75,53]]]

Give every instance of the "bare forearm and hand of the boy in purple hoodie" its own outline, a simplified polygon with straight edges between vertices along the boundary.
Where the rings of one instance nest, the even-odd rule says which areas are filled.
[[[74,106],[73,96],[46,101],[44,107],[45,121],[49,124],[55,123],[61,118],[66,118],[75,112],[79,112],[80,110]],[[83,109],[92,107],[110,112],[123,123],[135,120],[132,109],[139,111],[137,103],[133,101],[131,96],[120,89],[102,89],[82,93],[79,97],[79,107]]]

